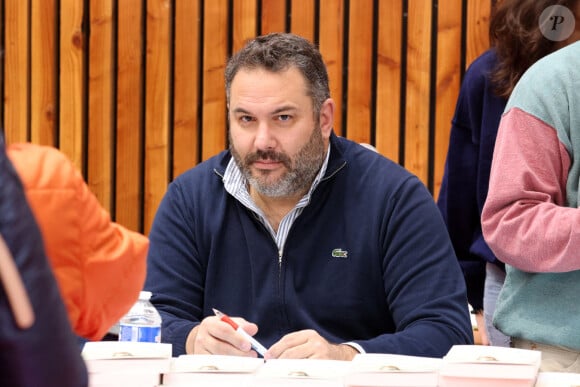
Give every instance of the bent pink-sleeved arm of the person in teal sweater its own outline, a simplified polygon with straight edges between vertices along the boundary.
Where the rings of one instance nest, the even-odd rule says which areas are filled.
[[[506,113],[482,215],[503,262],[529,272],[580,269],[580,211],[566,207],[570,165],[554,128],[518,108]]]

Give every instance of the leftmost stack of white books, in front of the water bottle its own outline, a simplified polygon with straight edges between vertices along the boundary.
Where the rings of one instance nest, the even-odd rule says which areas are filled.
[[[124,341],[89,342],[82,356],[89,387],[154,387],[171,365],[171,344]]]

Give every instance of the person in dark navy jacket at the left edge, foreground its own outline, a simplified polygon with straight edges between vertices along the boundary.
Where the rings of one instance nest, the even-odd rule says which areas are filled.
[[[77,337],[1,128],[0,385],[88,385]]]

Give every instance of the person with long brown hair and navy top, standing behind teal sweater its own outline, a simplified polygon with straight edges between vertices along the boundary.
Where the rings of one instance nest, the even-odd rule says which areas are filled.
[[[553,10],[557,17],[558,7],[577,11],[579,4],[578,0],[499,1],[490,20],[491,48],[473,61],[461,84],[437,205],[463,269],[482,344],[510,345],[510,338],[492,323],[505,266],[481,230],[499,122],[522,74],[538,59],[578,39],[574,29],[562,31],[565,35],[556,39],[546,36],[542,28],[553,26],[540,26],[542,13]],[[558,23],[560,19],[550,15],[543,17]]]

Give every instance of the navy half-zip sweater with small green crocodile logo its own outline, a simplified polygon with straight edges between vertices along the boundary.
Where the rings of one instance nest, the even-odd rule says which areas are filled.
[[[145,288],[174,355],[212,308],[258,324],[266,347],[302,329],[367,352],[440,357],[472,343],[461,270],[415,176],[331,136],[326,174],[279,253],[226,192],[230,158],[224,151],[171,183],[149,235]]]

